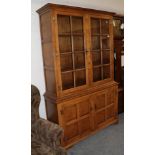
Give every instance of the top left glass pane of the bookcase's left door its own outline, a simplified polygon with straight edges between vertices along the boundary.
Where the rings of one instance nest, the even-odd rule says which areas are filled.
[[[71,32],[69,16],[58,15],[58,31],[59,34]]]

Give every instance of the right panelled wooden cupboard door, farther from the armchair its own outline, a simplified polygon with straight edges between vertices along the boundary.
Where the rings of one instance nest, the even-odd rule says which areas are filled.
[[[94,107],[93,118],[95,129],[104,126],[107,121],[114,119],[117,106],[115,97],[115,87],[108,88],[91,96],[90,102]]]

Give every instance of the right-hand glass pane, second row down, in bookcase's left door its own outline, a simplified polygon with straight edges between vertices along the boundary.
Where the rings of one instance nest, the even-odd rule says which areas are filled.
[[[73,43],[74,43],[74,51],[84,51],[83,36],[74,36]]]

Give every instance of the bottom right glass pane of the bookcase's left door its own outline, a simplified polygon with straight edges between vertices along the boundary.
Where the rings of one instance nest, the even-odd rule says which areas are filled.
[[[76,86],[82,86],[86,84],[86,71],[80,70],[76,71]]]

